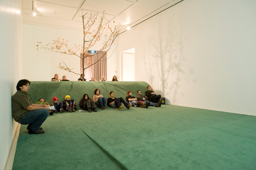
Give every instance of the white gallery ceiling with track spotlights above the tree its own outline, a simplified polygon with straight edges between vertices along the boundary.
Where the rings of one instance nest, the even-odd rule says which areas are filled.
[[[82,14],[102,15],[110,23],[122,23],[122,31],[182,0],[22,0],[23,23],[82,31]]]

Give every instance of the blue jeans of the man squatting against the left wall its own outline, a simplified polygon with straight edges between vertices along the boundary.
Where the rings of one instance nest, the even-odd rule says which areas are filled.
[[[48,109],[32,110],[20,119],[20,124],[28,124],[28,132],[36,132],[48,116]]]

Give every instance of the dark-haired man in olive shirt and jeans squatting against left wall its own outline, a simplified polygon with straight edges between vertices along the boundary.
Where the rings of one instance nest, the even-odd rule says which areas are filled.
[[[49,105],[33,104],[27,92],[30,81],[22,79],[18,82],[17,92],[12,96],[12,117],[20,124],[28,124],[29,134],[43,134],[42,123],[49,116]]]

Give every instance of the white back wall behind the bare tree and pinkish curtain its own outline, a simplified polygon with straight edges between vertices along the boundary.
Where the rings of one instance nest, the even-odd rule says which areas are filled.
[[[73,48],[75,44],[82,44],[83,36],[81,32],[23,24],[23,37],[24,78],[30,81],[51,81],[54,74],[59,74],[59,78],[65,75],[70,81],[78,81],[79,75],[58,68],[59,63],[61,63],[61,66],[65,66],[62,63],[64,62],[69,68],[74,68],[72,71],[80,74],[80,58],[78,56],[50,52],[43,49],[38,51],[36,45],[37,42],[52,43],[53,40],[60,37],[68,40],[68,46]],[[104,38],[102,38],[102,41],[104,41]],[[101,43],[98,42],[91,50],[99,50]],[[110,74],[110,76],[117,70],[117,50],[114,51],[116,45],[108,52],[109,59],[107,63],[111,63],[111,66],[107,67],[107,74]],[[112,53],[113,55],[110,57]],[[90,78],[87,79],[90,80]]]

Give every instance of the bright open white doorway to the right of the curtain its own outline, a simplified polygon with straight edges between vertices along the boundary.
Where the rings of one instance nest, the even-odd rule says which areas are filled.
[[[122,52],[122,81],[135,81],[135,48]]]

